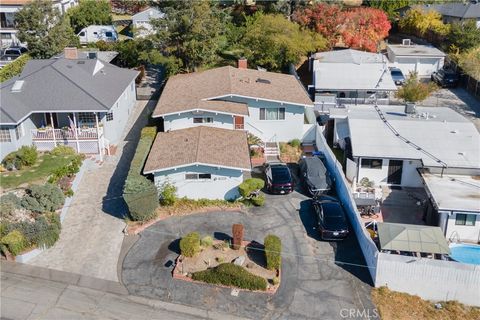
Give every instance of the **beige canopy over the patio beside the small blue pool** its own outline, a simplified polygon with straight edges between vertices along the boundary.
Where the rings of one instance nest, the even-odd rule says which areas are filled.
[[[378,223],[380,249],[393,251],[450,254],[439,227],[401,223]]]

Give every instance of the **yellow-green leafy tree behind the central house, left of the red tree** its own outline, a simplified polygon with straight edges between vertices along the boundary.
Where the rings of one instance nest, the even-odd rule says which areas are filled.
[[[326,41],[282,15],[259,12],[247,17],[240,47],[254,65],[277,71],[300,62],[301,57],[310,52],[324,49]]]

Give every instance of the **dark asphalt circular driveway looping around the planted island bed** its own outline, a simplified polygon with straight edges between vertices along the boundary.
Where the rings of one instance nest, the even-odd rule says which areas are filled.
[[[340,319],[346,310],[372,315],[370,277],[356,238],[319,241],[310,210],[310,201],[294,192],[268,195],[265,207],[248,212],[212,212],[160,221],[144,230],[127,253],[122,282],[132,295],[253,319]],[[263,243],[269,233],[282,239],[281,285],[275,295],[242,291],[235,297],[227,288],[172,278],[168,262],[178,256],[182,235],[198,231],[224,239],[231,235],[233,223],[244,225],[248,240]],[[356,314],[361,318],[361,312]]]

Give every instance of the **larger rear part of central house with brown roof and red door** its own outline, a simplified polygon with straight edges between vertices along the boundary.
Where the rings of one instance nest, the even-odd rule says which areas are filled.
[[[165,131],[201,125],[246,130],[267,142],[302,139],[313,107],[302,84],[239,65],[171,77],[152,117],[163,119]]]

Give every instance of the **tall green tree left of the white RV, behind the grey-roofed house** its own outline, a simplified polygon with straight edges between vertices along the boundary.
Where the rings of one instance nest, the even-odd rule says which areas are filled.
[[[23,6],[15,14],[18,38],[28,43],[32,58],[45,59],[61,52],[66,46],[77,46],[67,17],[48,0],[36,0]]]

